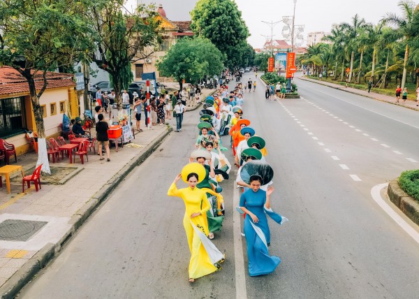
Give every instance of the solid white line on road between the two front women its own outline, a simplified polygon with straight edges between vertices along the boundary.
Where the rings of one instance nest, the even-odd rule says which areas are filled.
[[[234,188],[233,209],[240,205],[239,189]],[[234,238],[234,263],[236,298],[247,298],[246,275],[242,247],[242,228],[240,227],[240,213],[233,212],[233,238]]]

